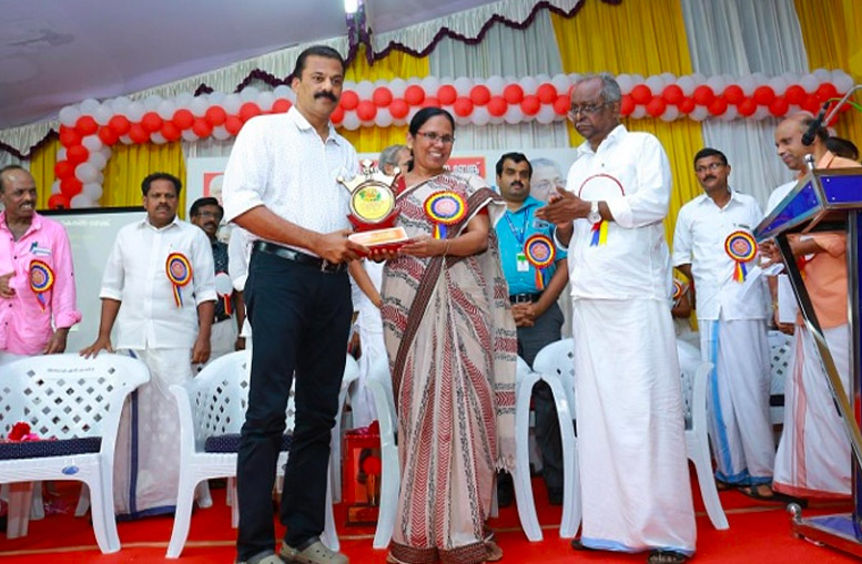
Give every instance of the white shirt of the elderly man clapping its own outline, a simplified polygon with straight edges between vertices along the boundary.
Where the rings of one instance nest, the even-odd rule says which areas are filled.
[[[600,197],[613,215],[607,243],[590,246],[592,225],[575,221],[569,244],[572,299],[670,300],[670,255],[662,221],[670,202],[670,165],[659,140],[618,125],[594,152],[589,142],[578,147],[566,188],[575,194],[595,175],[612,176],[619,188]],[[590,181],[592,182],[592,181]],[[612,181],[611,181],[612,182]],[[613,193],[616,192],[616,193]]]

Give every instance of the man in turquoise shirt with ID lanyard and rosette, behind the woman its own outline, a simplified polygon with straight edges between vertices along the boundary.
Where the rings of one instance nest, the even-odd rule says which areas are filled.
[[[509,285],[511,314],[518,328],[518,355],[533,366],[546,345],[560,339],[562,311],[557,298],[569,279],[566,253],[554,244],[554,225],[536,218],[545,205],[530,195],[530,162],[521,153],[497,161],[497,186],[508,211],[497,222],[503,274]],[[536,440],[541,451],[542,478],[551,505],[562,503],[562,445],[550,387],[534,388]],[[511,502],[511,479],[500,474],[498,502]]]

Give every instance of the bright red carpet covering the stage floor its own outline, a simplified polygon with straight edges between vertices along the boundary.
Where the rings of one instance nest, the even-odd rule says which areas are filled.
[[[491,521],[504,551],[503,562],[509,563],[570,563],[570,562],[643,562],[645,555],[615,555],[610,553],[575,552],[569,541],[559,539],[557,525],[560,509],[546,504],[545,488],[534,481],[536,501],[539,504],[539,521],[545,540],[530,543],[518,523],[514,505],[500,510],[500,516]],[[61,485],[62,495],[73,507],[78,494],[75,486]],[[738,492],[722,492],[721,502],[730,522],[729,531],[716,531],[703,513],[699,493],[693,492],[698,510],[697,563],[727,562],[782,562],[782,563],[832,563],[855,562],[852,557],[829,547],[815,546],[797,540],[790,533],[790,517],[783,507],[760,503]],[[71,515],[51,515],[30,522],[30,534],[9,541],[0,533],[0,563],[99,563],[121,562],[180,562],[182,564],[231,563],[234,560],[235,531],[224,504],[224,490],[214,490],[215,505],[200,510],[192,517],[189,543],[179,561],[164,557],[171,536],[173,520],[153,517],[133,523],[120,523],[120,540],[123,550],[103,555],[95,546],[95,539],[87,519]],[[372,548],[373,531],[369,527],[344,525],[344,511],[336,512],[342,550],[352,563],[383,563],[385,551]],[[839,513],[850,510],[849,503],[813,504],[803,512],[805,516]]]

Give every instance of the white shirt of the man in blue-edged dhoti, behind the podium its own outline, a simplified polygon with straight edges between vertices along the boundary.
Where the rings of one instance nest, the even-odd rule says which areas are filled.
[[[750,234],[762,217],[753,197],[732,189],[724,207],[701,194],[680,208],[673,232],[673,266],[691,265],[698,319],[767,318],[763,279],[754,280],[755,286],[743,296],[742,283],[733,279],[737,263],[724,250],[728,235],[738,230]],[[746,263],[747,271],[757,265],[755,256]]]

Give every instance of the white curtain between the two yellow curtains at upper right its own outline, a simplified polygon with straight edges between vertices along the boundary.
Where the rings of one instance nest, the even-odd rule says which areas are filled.
[[[682,13],[694,72],[773,76],[809,70],[793,0],[682,0]],[[703,122],[707,146],[730,161],[731,186],[761,207],[775,186],[793,178],[775,154],[777,124],[773,117]]]

